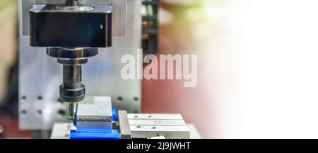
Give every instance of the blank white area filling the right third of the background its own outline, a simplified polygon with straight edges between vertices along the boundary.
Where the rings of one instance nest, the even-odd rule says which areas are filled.
[[[318,138],[318,1],[227,1],[207,65],[213,138]]]

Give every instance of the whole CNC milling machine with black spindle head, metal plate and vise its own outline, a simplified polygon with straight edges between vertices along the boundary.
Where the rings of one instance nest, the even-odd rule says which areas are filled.
[[[182,115],[142,114],[141,81],[120,76],[121,57],[141,48],[150,3],[19,0],[20,129],[57,139],[199,138]]]

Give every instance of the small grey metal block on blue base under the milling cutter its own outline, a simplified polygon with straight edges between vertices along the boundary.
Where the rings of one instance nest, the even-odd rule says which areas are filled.
[[[76,132],[112,132],[112,102],[110,97],[87,97],[78,103]]]

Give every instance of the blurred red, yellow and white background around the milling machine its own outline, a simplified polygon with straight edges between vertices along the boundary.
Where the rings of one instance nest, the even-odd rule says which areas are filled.
[[[157,54],[198,55],[198,84],[143,80],[143,113],[182,113],[204,138],[317,138],[317,6],[161,0]],[[18,130],[17,21],[16,1],[1,0],[0,137],[30,137]]]

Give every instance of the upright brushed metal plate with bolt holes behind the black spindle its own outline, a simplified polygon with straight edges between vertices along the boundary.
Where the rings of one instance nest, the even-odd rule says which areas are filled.
[[[55,122],[67,120],[67,106],[59,103],[62,67],[45,54],[45,48],[30,47],[23,35],[25,6],[19,0],[19,125],[23,130],[50,130]],[[141,47],[141,0],[127,1],[126,37],[113,38],[113,47],[100,48],[100,54],[83,66],[87,96],[111,96],[112,106],[128,113],[141,110],[141,81],[123,80],[123,55],[137,56]],[[27,13],[28,14],[28,13]],[[140,63],[139,66],[141,66]]]

